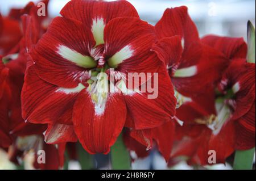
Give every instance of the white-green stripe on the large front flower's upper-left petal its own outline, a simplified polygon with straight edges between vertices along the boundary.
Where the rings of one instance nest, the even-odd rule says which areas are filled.
[[[66,47],[65,45],[59,45],[57,53],[68,61],[75,63],[83,68],[94,68],[97,66],[97,62],[90,56],[84,56],[76,50]]]

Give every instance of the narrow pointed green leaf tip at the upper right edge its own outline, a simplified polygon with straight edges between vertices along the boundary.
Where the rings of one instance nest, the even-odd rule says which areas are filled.
[[[247,44],[247,62],[255,64],[255,28],[250,21],[247,23]]]

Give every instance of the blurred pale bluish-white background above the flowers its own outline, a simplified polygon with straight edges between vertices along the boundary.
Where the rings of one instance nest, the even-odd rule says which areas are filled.
[[[0,0],[0,12],[7,15],[11,7],[23,7],[30,0]],[[33,0],[34,2],[38,2]],[[49,14],[58,16],[69,0],[51,0]],[[185,5],[195,21],[200,35],[246,37],[247,20],[255,25],[254,0],[128,0],[143,20],[155,24],[167,7]]]

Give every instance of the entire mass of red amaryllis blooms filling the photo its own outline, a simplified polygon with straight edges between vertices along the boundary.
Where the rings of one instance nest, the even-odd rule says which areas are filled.
[[[156,145],[166,161],[199,165],[209,150],[223,163],[255,146],[255,64],[243,39],[200,39],[185,6],[155,26],[127,1],[72,0],[49,26],[38,9],[0,15],[0,147],[13,161],[44,148],[55,164],[35,165],[57,169],[67,142],[108,154],[122,131],[138,157]]]

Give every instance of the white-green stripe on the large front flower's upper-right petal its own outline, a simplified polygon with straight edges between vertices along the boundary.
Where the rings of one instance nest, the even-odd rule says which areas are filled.
[[[118,64],[122,61],[130,58],[133,56],[134,50],[131,48],[130,45],[126,45],[117,53],[115,53],[112,57],[109,58],[108,64],[112,68],[117,68]]]

